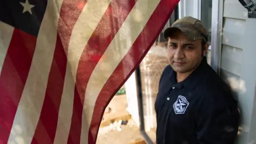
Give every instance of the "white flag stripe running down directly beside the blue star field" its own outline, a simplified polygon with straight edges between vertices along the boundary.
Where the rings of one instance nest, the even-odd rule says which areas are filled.
[[[57,39],[57,20],[62,1],[48,1],[8,143],[31,143],[42,110],[47,80]],[[19,133],[15,129],[19,128]]]

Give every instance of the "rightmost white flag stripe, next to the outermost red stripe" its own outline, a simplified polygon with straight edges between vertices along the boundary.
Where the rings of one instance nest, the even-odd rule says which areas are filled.
[[[94,68],[85,91],[81,132],[82,144],[88,143],[87,135],[89,133],[95,101],[102,87],[121,62],[124,55],[130,50],[159,2],[160,0],[138,0],[136,2],[122,27],[103,54],[105,55],[104,60],[101,58]],[[99,77],[101,77],[101,81],[99,81]]]

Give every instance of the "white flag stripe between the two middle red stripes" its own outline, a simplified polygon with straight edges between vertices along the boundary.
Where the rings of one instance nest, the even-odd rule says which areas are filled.
[[[93,31],[101,20],[102,15],[107,10],[109,3],[110,1],[107,0],[87,1],[72,31],[68,46],[67,71],[54,144],[67,143],[73,114],[74,87],[79,59]],[[84,137],[87,137],[87,135],[84,135]]]

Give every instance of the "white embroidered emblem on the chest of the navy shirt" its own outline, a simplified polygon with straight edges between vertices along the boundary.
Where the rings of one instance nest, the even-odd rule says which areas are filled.
[[[178,99],[173,104],[175,114],[184,114],[188,105],[189,102],[187,101],[187,99],[182,95],[179,95]]]

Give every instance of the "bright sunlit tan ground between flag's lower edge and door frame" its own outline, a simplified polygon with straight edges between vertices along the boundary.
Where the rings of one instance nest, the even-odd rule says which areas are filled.
[[[144,139],[126,111],[126,95],[116,95],[108,105],[99,129],[97,144],[130,144]]]

